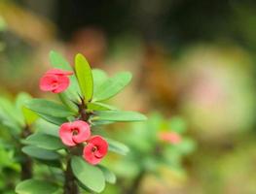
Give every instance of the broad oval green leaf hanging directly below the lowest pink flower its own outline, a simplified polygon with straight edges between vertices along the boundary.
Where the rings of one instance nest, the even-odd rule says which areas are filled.
[[[105,188],[105,178],[101,170],[92,166],[81,157],[73,156],[71,160],[72,171],[78,180],[94,192],[101,192]]]

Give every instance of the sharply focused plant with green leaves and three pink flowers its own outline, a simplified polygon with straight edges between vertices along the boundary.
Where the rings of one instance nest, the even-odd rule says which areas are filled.
[[[105,103],[128,85],[131,74],[123,72],[108,78],[101,70],[91,70],[82,54],[75,57],[75,71],[55,51],[50,58],[53,69],[41,78],[39,85],[43,91],[56,93],[61,103],[26,100],[25,109],[36,113],[46,124],[43,131],[35,129],[32,135],[24,137],[22,152],[37,162],[55,166],[61,178],[29,178],[18,183],[16,192],[75,194],[81,189],[101,192],[105,182],[114,183],[116,178],[99,163],[108,151],[126,154],[128,147],[102,137],[98,126],[146,119],[141,113],[119,111]],[[55,130],[47,128],[49,123]]]

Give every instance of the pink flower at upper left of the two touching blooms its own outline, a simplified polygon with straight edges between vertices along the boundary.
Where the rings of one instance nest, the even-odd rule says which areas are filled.
[[[76,146],[77,144],[86,142],[90,136],[90,125],[82,120],[65,122],[59,129],[59,137],[66,146]]]

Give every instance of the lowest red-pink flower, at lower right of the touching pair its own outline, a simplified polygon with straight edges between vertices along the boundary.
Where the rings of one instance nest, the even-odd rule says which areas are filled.
[[[98,164],[107,154],[108,144],[100,136],[93,136],[84,148],[84,158],[92,165]]]

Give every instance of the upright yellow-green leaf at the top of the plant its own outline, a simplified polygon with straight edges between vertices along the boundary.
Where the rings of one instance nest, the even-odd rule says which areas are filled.
[[[87,102],[91,101],[93,93],[93,79],[91,67],[87,59],[82,54],[77,54],[75,58],[76,76],[80,85],[80,89]]]

